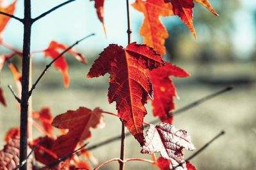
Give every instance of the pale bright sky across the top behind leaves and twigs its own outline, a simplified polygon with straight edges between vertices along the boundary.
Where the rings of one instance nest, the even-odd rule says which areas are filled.
[[[131,0],[132,3],[134,0]],[[212,0],[211,0],[212,1]],[[210,2],[211,2],[210,1]],[[9,2],[12,2],[11,0]],[[17,2],[15,15],[23,17],[23,0]],[[63,0],[33,0],[32,16],[35,18],[44,11],[51,9]],[[252,55],[255,46],[255,18],[253,11],[256,9],[255,0],[241,0],[242,8],[240,8],[234,16],[234,32],[232,36],[232,45],[234,53],[237,57],[242,56],[244,59]],[[138,36],[140,24],[143,20],[143,14],[131,9],[131,27],[132,41],[142,43],[142,39]],[[94,2],[89,0],[76,0],[62,8],[52,12],[46,17],[38,20],[32,29],[31,50],[40,51],[47,48],[50,41],[55,40],[60,43],[71,45],[77,39],[95,33],[96,36],[86,39],[76,46],[77,50],[82,50],[87,57],[92,56],[92,49],[99,53],[110,43],[118,45],[127,45],[127,14],[125,1],[107,0],[104,6],[104,22],[106,26],[107,36],[105,36],[102,24],[97,18],[94,8]],[[182,24],[180,22],[180,24]],[[10,20],[3,33],[6,43],[20,48],[22,46],[22,24],[16,20]],[[248,33],[250,32],[250,34]],[[199,35],[200,36],[200,35]],[[40,54],[38,54],[40,55]],[[88,56],[89,55],[89,56]],[[41,55],[42,56],[42,55]]]

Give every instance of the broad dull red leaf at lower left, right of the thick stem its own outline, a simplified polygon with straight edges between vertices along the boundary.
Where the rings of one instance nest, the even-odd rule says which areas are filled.
[[[95,108],[80,107],[76,111],[68,110],[66,113],[58,115],[52,121],[54,127],[68,129],[68,133],[59,136],[52,145],[52,152],[58,157],[63,157],[71,153],[77,146],[77,143],[90,138],[90,128],[104,127],[102,110]]]

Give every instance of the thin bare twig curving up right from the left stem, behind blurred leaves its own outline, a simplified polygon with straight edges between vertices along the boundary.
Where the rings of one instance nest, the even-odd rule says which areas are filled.
[[[77,44],[79,44],[81,41],[83,41],[86,38],[89,38],[90,36],[94,36],[95,34],[90,34],[82,39],[79,39],[78,41],[76,41],[76,43],[74,43],[71,46],[68,46],[68,48],[66,50],[64,50],[62,53],[60,53],[60,55],[58,55],[58,57],[56,57],[54,60],[52,60],[47,66],[45,66],[44,71],[42,71],[42,73],[40,74],[40,76],[37,78],[37,80],[35,81],[35,83],[33,83],[31,89],[29,90],[29,97],[31,96],[33,90],[36,88],[37,83],[41,80],[42,76],[44,76],[44,74],[46,73],[47,69],[49,69],[49,67],[51,67],[51,65],[58,59],[60,59],[60,57],[65,54],[66,52],[68,52],[68,50],[70,50],[71,48],[73,48],[74,46],[76,46]]]

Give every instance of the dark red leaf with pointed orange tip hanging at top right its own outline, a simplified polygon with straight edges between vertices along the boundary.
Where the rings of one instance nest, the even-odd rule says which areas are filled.
[[[172,3],[174,15],[178,15],[180,17],[196,38],[196,32],[193,25],[193,8],[195,6],[193,0],[164,0],[164,2]]]

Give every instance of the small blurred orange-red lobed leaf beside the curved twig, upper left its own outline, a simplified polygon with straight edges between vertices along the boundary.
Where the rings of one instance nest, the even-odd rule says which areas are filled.
[[[51,57],[52,59],[55,59],[61,54],[60,50],[66,50],[66,49],[67,49],[67,46],[61,43],[58,43],[56,41],[51,41],[48,48],[44,50],[44,55],[45,57]],[[81,53],[75,52],[74,50],[68,50],[68,53],[74,55],[74,57],[76,57],[77,60],[83,62],[84,64],[87,63],[86,59],[83,57]],[[56,69],[59,69],[61,71],[63,75],[64,85],[65,87],[68,87],[69,85],[68,64],[64,56],[62,55],[58,60],[56,60],[53,63],[53,66]]]

